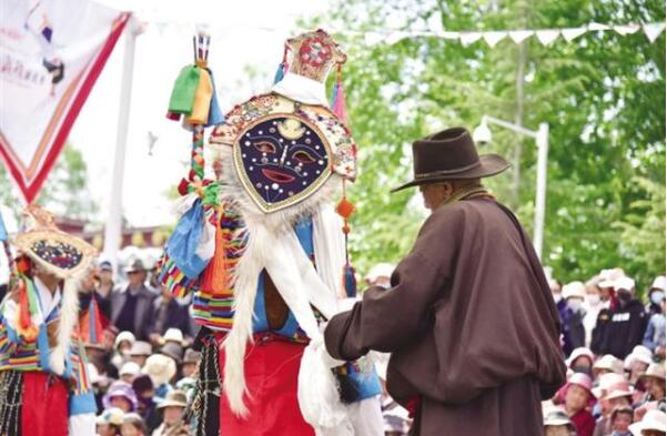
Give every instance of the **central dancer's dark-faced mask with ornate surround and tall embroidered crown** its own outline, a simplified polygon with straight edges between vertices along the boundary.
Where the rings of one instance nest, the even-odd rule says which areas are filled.
[[[326,75],[345,54],[323,30],[286,47],[292,61],[273,92],[236,105],[210,138],[212,145],[232,146],[234,172],[263,213],[309,199],[332,174],[356,178],[356,145],[324,94]]]

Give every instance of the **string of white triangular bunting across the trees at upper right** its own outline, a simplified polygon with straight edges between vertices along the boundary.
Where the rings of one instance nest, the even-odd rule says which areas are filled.
[[[587,32],[616,32],[621,36],[644,32],[649,42],[655,42],[665,30],[664,22],[653,22],[645,24],[600,24],[592,22],[588,26],[565,29],[535,29],[535,30],[488,30],[488,31],[447,31],[437,29],[437,24],[432,26],[426,31],[390,30],[390,31],[336,31],[350,36],[361,36],[366,44],[375,45],[381,42],[394,44],[405,38],[442,38],[447,40],[458,40],[463,45],[469,45],[477,41],[484,41],[488,47],[495,47],[498,42],[509,39],[514,43],[522,43],[528,38],[536,38],[543,45],[554,43],[558,38],[572,42]],[[436,29],[433,29],[436,28]]]

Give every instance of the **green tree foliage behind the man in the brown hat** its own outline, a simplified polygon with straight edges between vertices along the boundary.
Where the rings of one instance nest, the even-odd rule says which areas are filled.
[[[568,28],[664,21],[665,9],[657,0],[341,0],[315,24],[427,30],[434,20],[445,30]],[[664,33],[655,43],[641,31],[592,32],[548,47],[530,38],[521,75],[519,45],[509,39],[489,48],[425,37],[373,44],[336,37],[350,54],[344,84],[361,150],[362,174],[351,196],[357,205],[353,255],[362,272],[405,255],[424,216],[414,190],[388,193],[411,176],[410,143],[445,126],[472,130],[488,114],[532,130],[549,123],[543,258],[557,278],[586,280],[620,266],[645,286],[664,273]],[[518,197],[511,172],[487,184],[532,232],[534,142],[492,130],[493,143],[481,152],[512,159],[521,145]]]

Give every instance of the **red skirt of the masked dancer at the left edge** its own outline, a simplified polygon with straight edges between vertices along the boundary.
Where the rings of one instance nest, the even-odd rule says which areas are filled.
[[[55,375],[23,373],[21,434],[68,436],[68,387]]]

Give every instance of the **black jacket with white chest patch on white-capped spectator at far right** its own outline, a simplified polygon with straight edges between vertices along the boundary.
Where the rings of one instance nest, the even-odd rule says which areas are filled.
[[[647,322],[648,315],[638,300],[630,300],[625,306],[619,304],[609,312],[599,354],[625,358],[635,346],[641,344]]]

